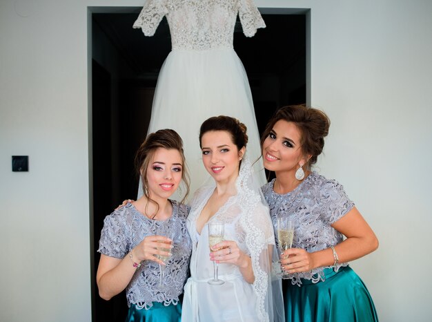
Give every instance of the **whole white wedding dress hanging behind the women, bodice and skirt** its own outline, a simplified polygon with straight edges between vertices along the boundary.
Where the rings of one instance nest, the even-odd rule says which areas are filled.
[[[183,138],[192,192],[208,178],[198,141],[208,117],[228,115],[246,124],[248,157],[261,155],[251,88],[233,50],[237,14],[247,37],[265,27],[253,0],[147,0],[133,25],[153,36],[161,19],[168,20],[172,51],[159,73],[148,133],[168,128]],[[254,169],[264,184],[262,162]]]

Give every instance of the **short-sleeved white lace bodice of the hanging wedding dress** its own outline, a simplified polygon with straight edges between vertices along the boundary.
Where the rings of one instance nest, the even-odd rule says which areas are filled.
[[[247,37],[266,26],[253,0],[147,0],[133,28],[153,36],[166,16],[173,50],[233,48],[237,14]]]

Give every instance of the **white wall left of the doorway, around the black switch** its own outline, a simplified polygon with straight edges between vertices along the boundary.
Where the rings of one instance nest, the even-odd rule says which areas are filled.
[[[87,18],[69,2],[0,1],[0,321],[90,321]]]

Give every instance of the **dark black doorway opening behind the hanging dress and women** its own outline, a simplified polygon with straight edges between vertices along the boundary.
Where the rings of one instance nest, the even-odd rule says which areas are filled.
[[[150,121],[159,70],[170,52],[164,18],[153,37],[132,29],[141,8],[97,8],[91,14],[92,177],[92,321],[124,321],[124,292],[110,301],[95,285],[99,238],[105,216],[124,199],[135,198],[138,179],[133,158]],[[91,9],[90,9],[91,11]],[[288,12],[290,13],[290,12]],[[237,20],[234,48],[253,94],[259,133],[279,106],[306,103],[306,11],[264,12],[266,28],[246,38]],[[217,114],[217,113],[216,113]],[[215,115],[216,115],[215,114]]]

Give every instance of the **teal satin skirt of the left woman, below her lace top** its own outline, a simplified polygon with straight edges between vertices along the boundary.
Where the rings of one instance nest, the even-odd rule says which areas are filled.
[[[177,305],[170,304],[165,306],[164,303],[153,302],[150,309],[138,309],[136,305],[131,304],[129,307],[126,322],[180,322],[181,321],[181,303]]]

